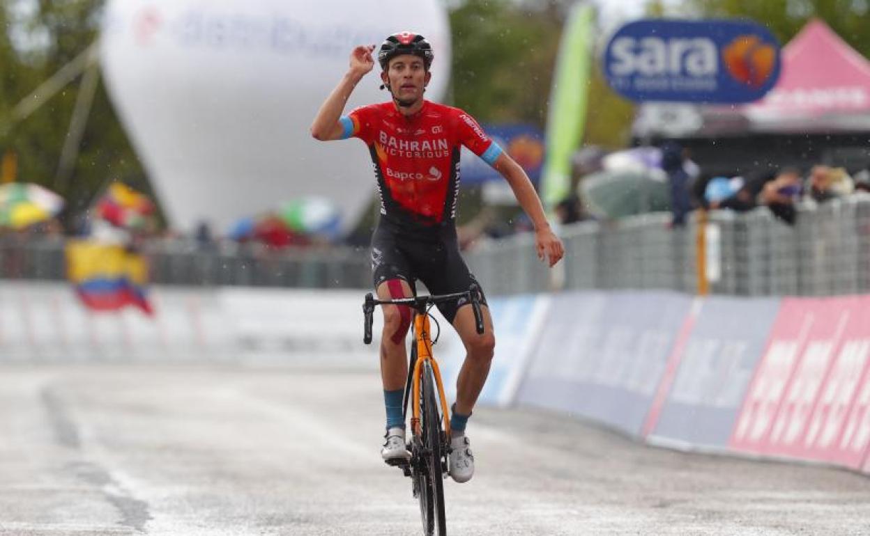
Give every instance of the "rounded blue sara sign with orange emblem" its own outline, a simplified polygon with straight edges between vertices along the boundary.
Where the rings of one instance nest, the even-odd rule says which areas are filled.
[[[749,103],[780,76],[780,45],[749,21],[649,19],[620,28],[603,61],[633,101]]]

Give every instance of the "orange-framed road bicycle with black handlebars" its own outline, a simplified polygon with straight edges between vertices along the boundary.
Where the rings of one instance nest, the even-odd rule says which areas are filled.
[[[432,339],[429,310],[437,303],[458,301],[465,298],[472,304],[474,321],[478,334],[484,333],[483,316],[480,314],[480,292],[472,285],[465,292],[454,294],[413,296],[393,300],[377,300],[365,294],[363,314],[365,314],[365,344],[371,343],[371,323],[375,306],[405,305],[414,311],[413,340],[408,366],[408,380],[405,382],[405,396],[402,415],[407,422],[408,404],[411,403],[411,439],[407,448],[411,460],[390,460],[387,463],[398,467],[412,481],[413,496],[420,503],[420,516],[423,519],[423,533],[426,536],[446,536],[444,479],[447,473],[447,456],[450,455],[450,412],[438,361],[432,354],[432,346],[438,341],[438,334]],[[438,328],[438,321],[432,317]],[[437,393],[437,398],[436,398]],[[440,404],[439,404],[440,403]]]

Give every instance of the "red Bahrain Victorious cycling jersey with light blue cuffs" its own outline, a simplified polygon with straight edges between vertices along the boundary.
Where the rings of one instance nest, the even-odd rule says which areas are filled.
[[[455,219],[460,145],[490,165],[501,154],[472,116],[429,101],[413,116],[391,102],[363,106],[341,124],[344,138],[356,136],[369,146],[382,218],[415,228]]]

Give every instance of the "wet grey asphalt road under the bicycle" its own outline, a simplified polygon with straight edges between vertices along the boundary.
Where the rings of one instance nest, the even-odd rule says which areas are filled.
[[[0,534],[420,533],[371,367],[3,365]],[[451,534],[867,534],[870,478],[478,408]]]

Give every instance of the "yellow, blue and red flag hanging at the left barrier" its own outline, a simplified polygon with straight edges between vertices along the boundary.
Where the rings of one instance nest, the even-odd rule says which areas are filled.
[[[145,295],[148,265],[142,255],[123,246],[71,240],[66,246],[67,278],[78,297],[95,311],[117,311],[127,305],[153,314]]]

